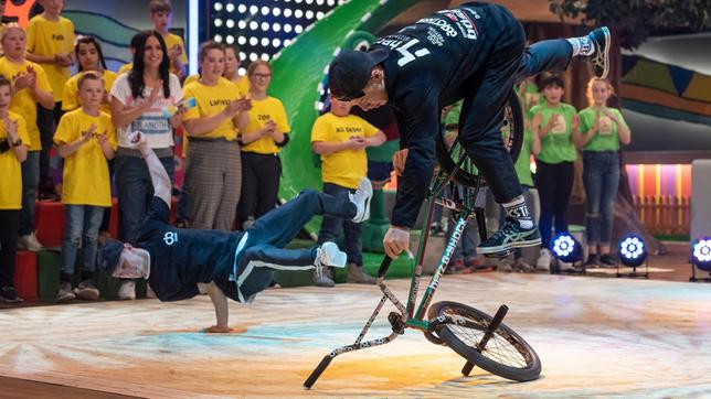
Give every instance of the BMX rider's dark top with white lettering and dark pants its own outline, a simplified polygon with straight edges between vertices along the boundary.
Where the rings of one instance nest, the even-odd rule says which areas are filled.
[[[384,48],[388,104],[410,150],[392,215],[395,226],[414,227],[435,162],[439,110],[464,98],[459,141],[481,170],[497,202],[521,195],[500,127],[517,80],[543,71],[563,71],[572,56],[565,40],[526,47],[521,23],[506,8],[466,3],[443,10],[379,39]]]

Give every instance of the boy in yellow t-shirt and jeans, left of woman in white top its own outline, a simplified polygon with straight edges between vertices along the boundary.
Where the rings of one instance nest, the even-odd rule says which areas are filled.
[[[65,114],[56,129],[54,142],[64,158],[62,203],[65,211],[62,240],[59,302],[76,296],[95,301],[98,290],[92,282],[96,268],[98,229],[104,207],[112,206],[107,160],[116,151],[116,129],[112,118],[100,111],[104,83],[87,72],[78,80],[82,108]],[[79,240],[84,259],[82,282],[72,290],[72,277]]]

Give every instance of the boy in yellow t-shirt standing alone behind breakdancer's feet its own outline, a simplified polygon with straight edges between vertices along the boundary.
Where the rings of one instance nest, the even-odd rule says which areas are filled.
[[[362,184],[368,184],[365,148],[385,142],[385,133],[365,120],[349,115],[351,106],[331,97],[331,111],[320,116],[311,129],[311,147],[321,155],[323,193],[348,198]],[[362,225],[333,216],[323,216],[318,242],[332,241],[343,231],[348,255],[348,282],[374,284],[363,272]],[[314,274],[318,287],[333,287],[330,273]]]

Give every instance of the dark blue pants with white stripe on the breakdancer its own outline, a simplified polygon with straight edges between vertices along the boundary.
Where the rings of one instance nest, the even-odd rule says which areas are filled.
[[[318,246],[306,249],[283,248],[316,215],[350,219],[355,216],[355,205],[348,198],[306,190],[296,198],[259,217],[247,229],[248,237],[237,259],[237,276],[238,279],[244,279],[240,291],[245,301],[269,287],[274,270],[314,268]]]

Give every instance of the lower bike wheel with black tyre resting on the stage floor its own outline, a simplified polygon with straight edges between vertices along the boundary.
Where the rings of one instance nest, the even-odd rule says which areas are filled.
[[[530,381],[541,375],[541,360],[533,348],[513,330],[501,323],[487,346],[477,348],[491,323],[491,316],[457,302],[437,302],[428,314],[449,316],[456,324],[437,327],[438,337],[454,352],[497,376],[514,381]]]

